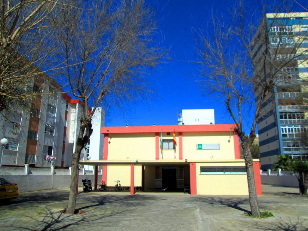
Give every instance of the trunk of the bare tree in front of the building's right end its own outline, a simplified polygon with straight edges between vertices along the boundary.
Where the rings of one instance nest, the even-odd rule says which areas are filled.
[[[251,214],[253,216],[260,217],[257,190],[256,190],[256,184],[254,181],[253,161],[252,161],[252,157],[249,152],[249,145],[246,142],[242,143],[242,148],[244,150],[244,159],[245,159],[245,166],[246,166],[246,172],[247,172],[249,204],[250,204]]]

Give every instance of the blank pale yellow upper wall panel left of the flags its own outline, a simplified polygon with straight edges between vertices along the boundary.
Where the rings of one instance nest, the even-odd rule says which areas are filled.
[[[111,134],[108,160],[155,160],[155,134]]]

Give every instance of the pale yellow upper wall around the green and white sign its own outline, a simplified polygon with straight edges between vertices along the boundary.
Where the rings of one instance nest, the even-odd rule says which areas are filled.
[[[183,160],[234,160],[234,141],[231,132],[183,134]],[[197,144],[219,144],[219,150],[197,150]]]

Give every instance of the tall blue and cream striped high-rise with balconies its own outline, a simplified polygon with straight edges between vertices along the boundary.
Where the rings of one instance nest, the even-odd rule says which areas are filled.
[[[266,14],[255,36],[252,48],[254,73],[264,70],[264,63],[268,62],[269,74],[263,75],[264,79],[260,81],[274,73],[271,77],[274,76],[275,86],[266,96],[258,120],[260,164],[264,170],[272,169],[280,154],[291,155],[293,159],[308,156],[307,33],[308,13],[278,13]],[[265,52],[270,54],[266,56],[267,60],[264,59]],[[258,101],[260,91],[257,86],[255,96]]]

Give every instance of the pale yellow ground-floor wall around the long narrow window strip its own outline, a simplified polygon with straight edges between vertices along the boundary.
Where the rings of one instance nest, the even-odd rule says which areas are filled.
[[[245,163],[196,164],[197,194],[199,195],[248,195],[247,175],[201,175],[202,166],[245,166]]]

